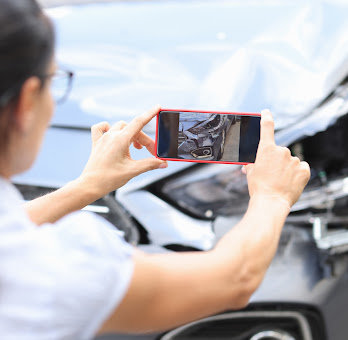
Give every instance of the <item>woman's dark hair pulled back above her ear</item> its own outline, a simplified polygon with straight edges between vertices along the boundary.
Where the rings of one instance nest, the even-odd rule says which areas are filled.
[[[0,0],[0,151],[23,83],[43,76],[54,53],[54,30],[36,0]]]

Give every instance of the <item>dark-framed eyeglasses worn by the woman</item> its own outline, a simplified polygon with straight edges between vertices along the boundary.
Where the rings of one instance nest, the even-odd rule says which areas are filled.
[[[73,72],[58,69],[53,74],[39,75],[37,77],[42,82],[44,82],[47,78],[50,78],[51,91],[56,104],[62,104],[69,96],[74,79]],[[17,83],[0,96],[0,108],[5,107],[17,95],[24,81]]]

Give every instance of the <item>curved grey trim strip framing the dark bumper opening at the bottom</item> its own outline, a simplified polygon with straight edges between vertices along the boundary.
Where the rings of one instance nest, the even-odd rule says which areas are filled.
[[[257,312],[237,312],[237,313],[227,313],[227,314],[220,314],[211,316],[205,319],[201,319],[198,321],[191,322],[187,325],[178,327],[167,334],[163,335],[160,340],[172,340],[174,336],[177,336],[181,332],[185,331],[186,329],[196,326],[199,324],[203,324],[205,322],[209,321],[216,321],[216,320],[228,320],[228,319],[237,319],[237,318],[248,318],[248,317],[258,317],[258,318],[269,318],[269,317],[281,317],[281,318],[293,318],[295,319],[299,325],[302,332],[303,340],[313,340],[311,335],[311,330],[308,324],[308,321],[306,318],[299,312],[268,312],[268,311],[257,311]]]

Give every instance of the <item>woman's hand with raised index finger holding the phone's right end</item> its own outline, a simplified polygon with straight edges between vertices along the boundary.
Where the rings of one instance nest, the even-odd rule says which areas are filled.
[[[279,198],[291,207],[300,197],[309,177],[306,162],[292,157],[286,147],[274,142],[274,122],[269,110],[261,113],[261,138],[254,164],[245,167],[250,197]]]

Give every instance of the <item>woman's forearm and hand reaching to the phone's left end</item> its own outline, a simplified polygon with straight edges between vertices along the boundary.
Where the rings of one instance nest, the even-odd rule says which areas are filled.
[[[99,123],[92,127],[92,152],[81,176],[64,187],[25,204],[30,219],[37,225],[54,223],[63,216],[82,209],[127,183],[145,171],[166,168],[167,163],[151,157],[135,161],[129,147],[145,146],[155,155],[154,141],[141,129],[159,112],[153,109],[132,120],[110,127]]]

